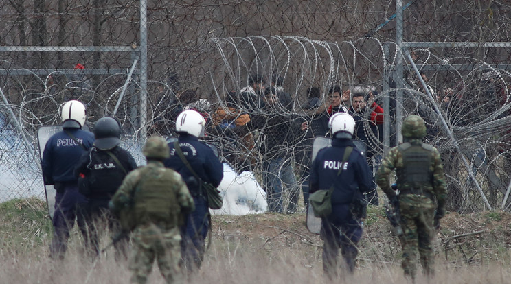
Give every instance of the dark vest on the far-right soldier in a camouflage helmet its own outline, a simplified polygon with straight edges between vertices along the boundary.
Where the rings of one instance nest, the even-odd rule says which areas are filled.
[[[402,154],[403,164],[402,168],[396,169],[398,188],[406,191],[431,186],[433,173],[429,171],[429,165],[433,146],[424,143],[411,145],[407,142],[399,145],[398,150]]]

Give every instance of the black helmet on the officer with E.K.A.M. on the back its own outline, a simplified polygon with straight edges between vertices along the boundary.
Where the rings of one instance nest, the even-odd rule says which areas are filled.
[[[100,150],[110,150],[121,143],[119,122],[113,117],[102,117],[94,126],[94,146]]]

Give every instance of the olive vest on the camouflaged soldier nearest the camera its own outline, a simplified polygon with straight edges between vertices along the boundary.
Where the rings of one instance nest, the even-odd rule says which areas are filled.
[[[165,224],[178,226],[181,207],[177,202],[172,170],[148,168],[142,170],[141,180],[135,189],[134,209],[137,224]]]

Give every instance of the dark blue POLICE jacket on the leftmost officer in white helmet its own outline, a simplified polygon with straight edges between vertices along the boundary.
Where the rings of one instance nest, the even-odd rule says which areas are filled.
[[[83,147],[76,143],[65,131],[71,133]],[[73,170],[80,161],[83,153],[91,149],[94,143],[94,134],[78,128],[66,128],[49,137],[43,152],[41,167],[45,184],[53,185],[55,182],[78,182]]]

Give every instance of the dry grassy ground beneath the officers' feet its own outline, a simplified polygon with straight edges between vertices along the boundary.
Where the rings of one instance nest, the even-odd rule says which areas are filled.
[[[95,261],[82,257],[76,230],[65,261],[50,261],[51,235],[41,230],[47,220],[40,218],[39,211],[44,209],[34,200],[1,204],[2,283],[128,283],[127,263],[116,262],[113,249]],[[511,215],[503,212],[447,215],[436,241],[436,277],[432,283],[509,283],[510,220]],[[322,242],[306,230],[304,222],[300,214],[214,216],[214,241],[203,268],[188,282],[328,283],[323,279]],[[484,233],[477,233],[480,231]],[[477,234],[470,235],[474,232]],[[465,236],[460,237],[462,234]],[[104,235],[102,246],[108,241]],[[155,266],[149,283],[163,282]],[[339,270],[339,279],[334,281],[348,282],[407,283],[400,269],[400,247],[389,235],[381,209],[370,210],[355,274],[349,276]],[[417,283],[427,283],[427,279],[419,275]]]

